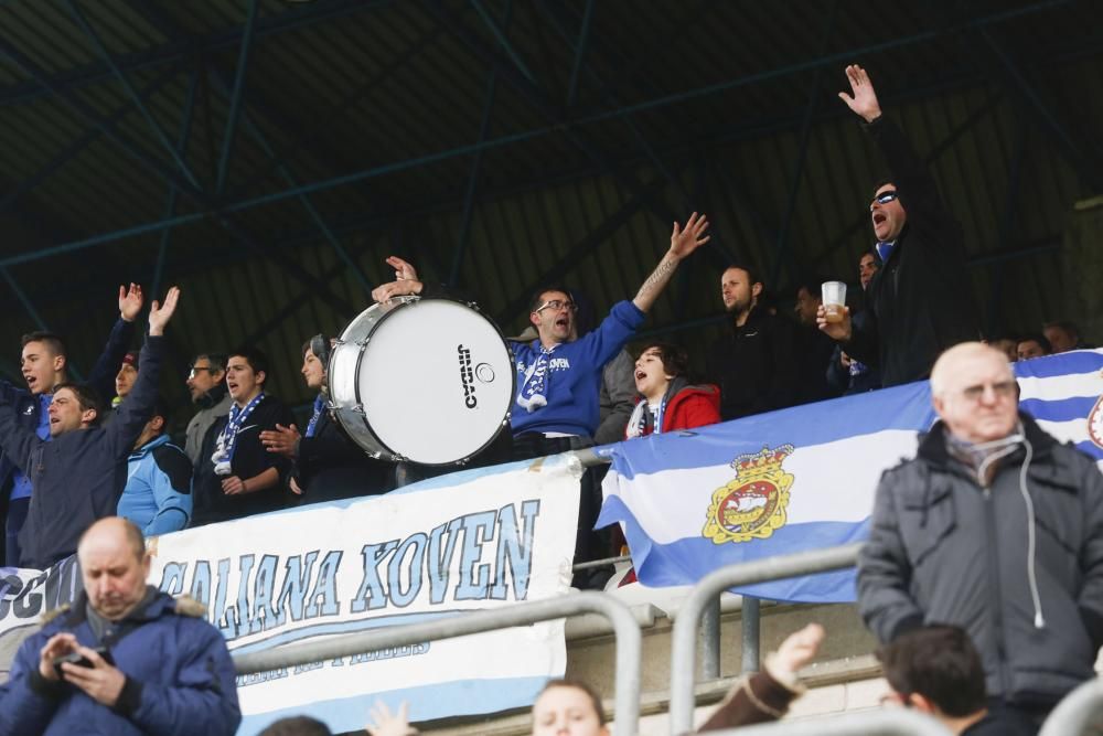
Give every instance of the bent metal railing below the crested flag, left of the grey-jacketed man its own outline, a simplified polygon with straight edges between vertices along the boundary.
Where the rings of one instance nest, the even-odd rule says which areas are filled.
[[[671,733],[684,734],[693,728],[697,631],[700,627],[702,612],[706,607],[713,605],[721,593],[737,585],[854,567],[858,562],[860,548],[861,544],[847,544],[756,559],[722,567],[702,578],[674,619],[671,649]]]

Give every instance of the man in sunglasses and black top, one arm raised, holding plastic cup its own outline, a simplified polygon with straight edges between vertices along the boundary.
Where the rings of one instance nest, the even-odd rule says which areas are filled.
[[[961,223],[939,198],[934,179],[903,132],[881,115],[877,93],[860,66],[847,66],[853,95],[839,97],[863,120],[888,162],[869,204],[884,264],[867,290],[869,319],[855,326],[817,314],[821,330],[843,343],[847,355],[881,372],[885,386],[927,377],[946,348],[976,340],[979,330],[972,285],[962,268]]]

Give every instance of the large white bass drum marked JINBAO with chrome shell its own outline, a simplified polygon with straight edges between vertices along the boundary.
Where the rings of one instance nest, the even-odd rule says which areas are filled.
[[[463,465],[508,423],[516,373],[473,305],[403,297],[361,312],[333,346],[330,408],[368,455]]]

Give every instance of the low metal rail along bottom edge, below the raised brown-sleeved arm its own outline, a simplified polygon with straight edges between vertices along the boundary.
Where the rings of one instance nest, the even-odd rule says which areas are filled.
[[[904,708],[847,713],[815,721],[783,721],[710,730],[709,736],[949,736],[929,715]]]

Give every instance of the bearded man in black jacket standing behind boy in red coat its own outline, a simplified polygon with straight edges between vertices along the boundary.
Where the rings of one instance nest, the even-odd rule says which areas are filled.
[[[720,277],[730,332],[708,351],[708,380],[720,386],[720,417],[738,419],[792,406],[797,401],[793,327],[759,307],[762,281],[745,265]]]

